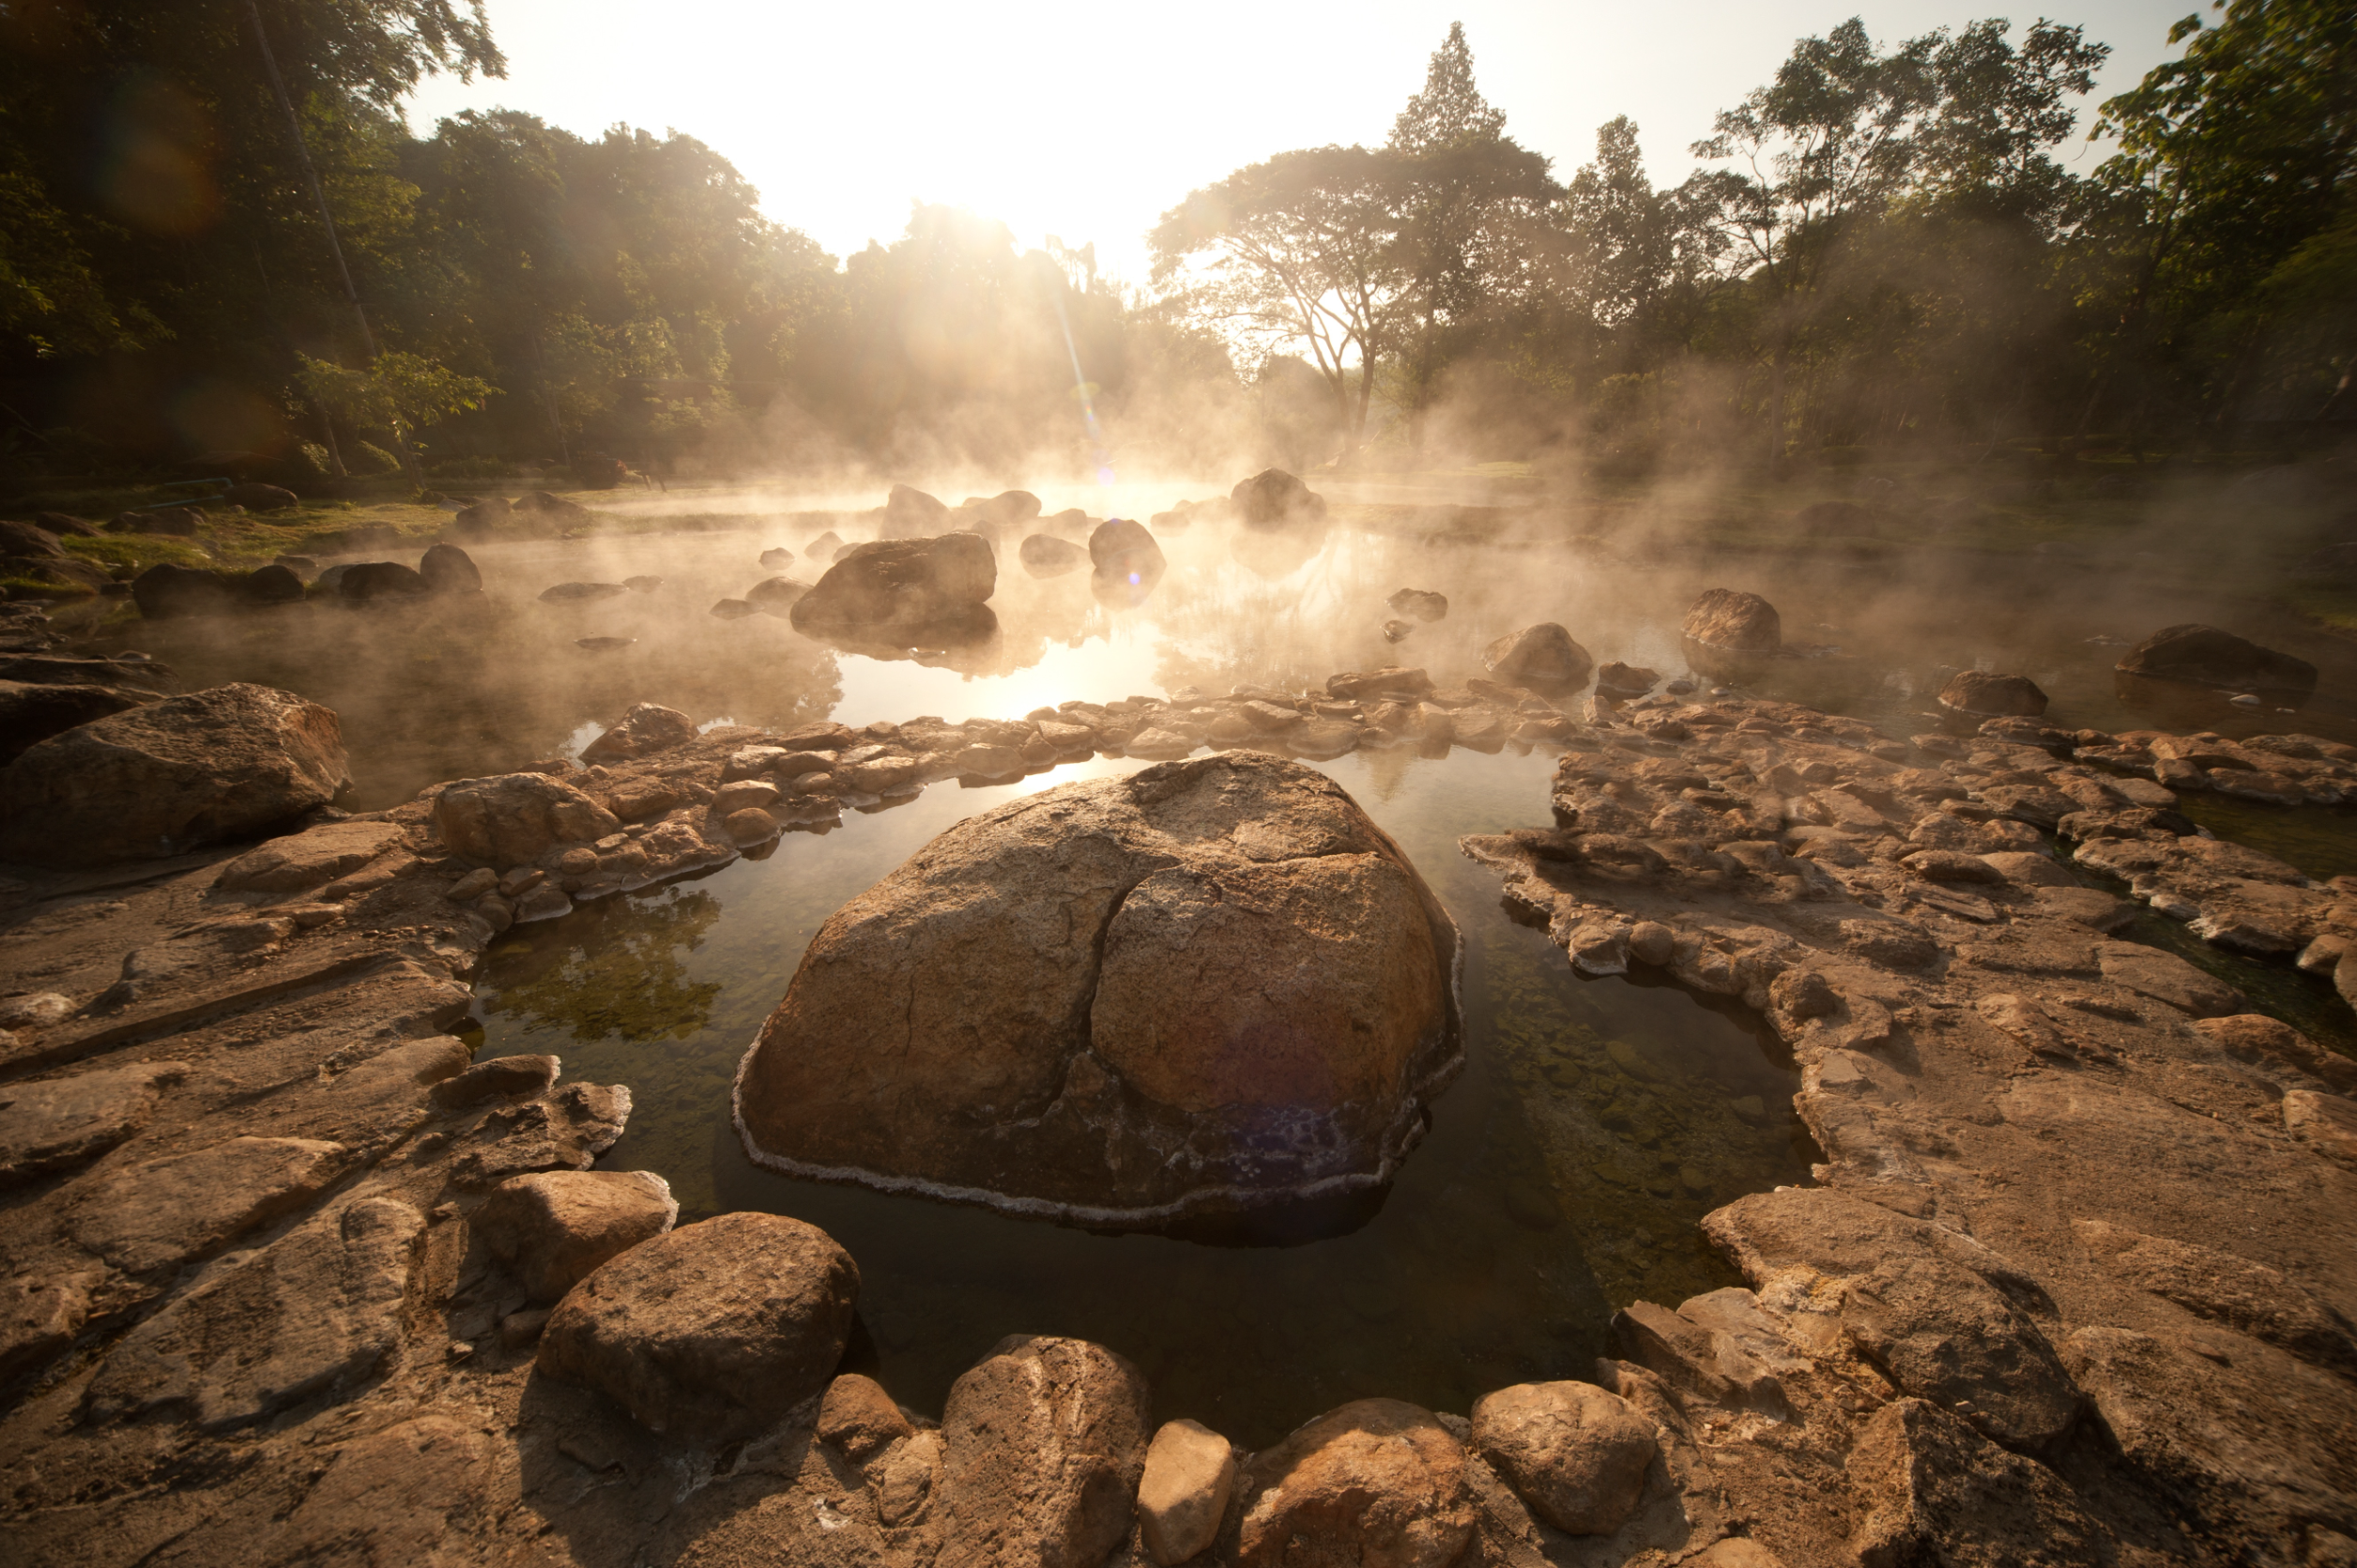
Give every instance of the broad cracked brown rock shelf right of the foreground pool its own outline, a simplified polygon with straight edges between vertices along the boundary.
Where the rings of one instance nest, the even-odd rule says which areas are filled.
[[[2357,1172],[2300,1137],[2352,1063],[2110,936],[2124,879],[2213,948],[2333,971],[2357,884],[2161,785],[2277,764],[2286,804],[2338,802],[2357,752],[1907,743],[1739,698],[1593,719],[1553,823],[1464,851],[1579,971],[1761,1009],[1827,1155],[1704,1219],[1751,1290],[1615,1318],[1678,1408],[1671,1471],[1782,1561],[2357,1561]]]

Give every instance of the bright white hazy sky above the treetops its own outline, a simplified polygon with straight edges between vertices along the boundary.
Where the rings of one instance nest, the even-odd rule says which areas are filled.
[[[2194,0],[2062,0],[2112,45],[2091,101],[2159,64]],[[1850,14],[1879,40],[1994,7],[1881,0],[1570,5],[785,5],[775,0],[490,0],[504,80],[436,78],[420,130],[507,106],[585,137],[684,130],[761,189],[761,210],[834,255],[891,241],[912,200],[1004,219],[1023,245],[1094,241],[1146,281],[1143,233],[1190,189],[1292,146],[1381,141],[1450,21],[1466,24],[1506,130],[1570,177],[1617,113],[1657,184],[1692,167],[1711,116],[1765,83],[1796,38]],[[2001,14],[2001,12],[1996,12]],[[2039,12],[2020,12],[2027,26]],[[2084,127],[2086,120],[2081,120]],[[2062,156],[2091,170],[2093,149]]]

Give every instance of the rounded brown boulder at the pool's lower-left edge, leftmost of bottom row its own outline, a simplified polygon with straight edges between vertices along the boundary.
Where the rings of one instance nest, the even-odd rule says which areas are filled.
[[[721,1214],[646,1240],[566,1292],[542,1377],[596,1389],[651,1431],[740,1438],[827,1386],[860,1271],[818,1226]]]

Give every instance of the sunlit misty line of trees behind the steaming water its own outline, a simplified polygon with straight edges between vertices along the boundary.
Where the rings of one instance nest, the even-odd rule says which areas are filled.
[[[837,262],[676,132],[410,134],[427,73],[504,71],[481,0],[9,0],[0,460],[1643,472],[2345,429],[2357,12],[2230,0],[2171,42],[2088,106],[2081,28],[1843,21],[1657,189],[1626,118],[1558,179],[1452,26],[1381,146],[1188,193],[1122,288],[950,207]]]

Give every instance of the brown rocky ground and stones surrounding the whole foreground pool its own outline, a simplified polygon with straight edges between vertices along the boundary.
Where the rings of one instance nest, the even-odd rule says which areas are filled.
[[[474,816],[436,811],[448,785],[262,851],[0,872],[26,976],[0,1040],[12,1561],[2357,1561],[2352,1063],[2117,938],[2140,901],[2341,976],[2357,884],[2173,804],[2357,799],[2348,747],[1900,740],[1749,700],[1574,719],[1414,670],[662,731],[502,776],[566,792],[478,790]],[[1801,1063],[1817,1184],[1704,1221],[1749,1285],[1633,1302],[1617,1356],[1471,1412],[1362,1398],[1261,1452],[1157,1429],[1138,1370],[1077,1339],[1002,1342],[936,1422],[841,1365],[832,1240],[556,1181],[613,1146],[627,1087],[469,1066],[453,1033],[514,920],[926,780],[1200,745],[1558,750],[1551,821],[1466,854],[1577,969],[1737,997]]]

